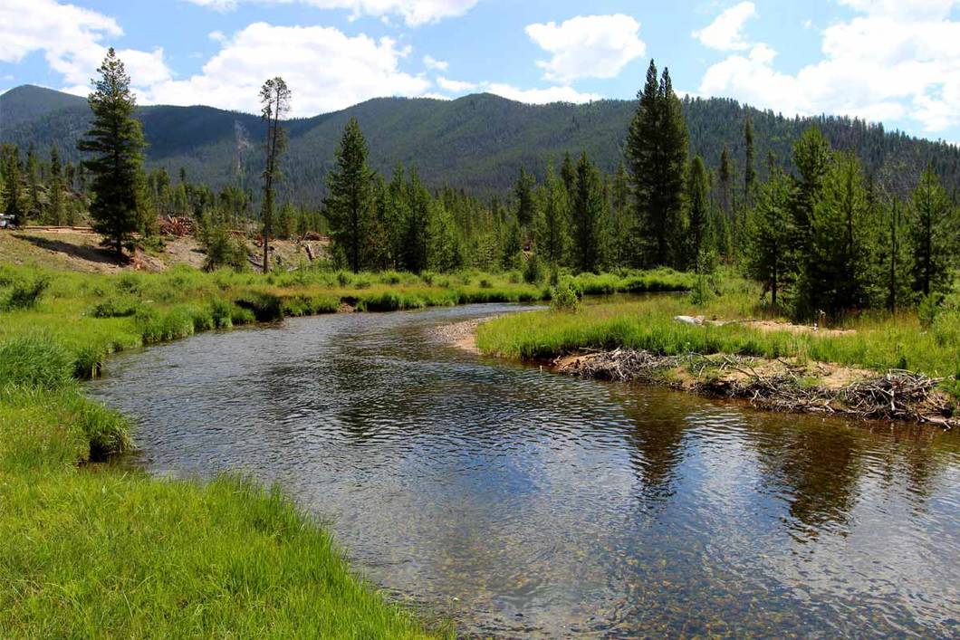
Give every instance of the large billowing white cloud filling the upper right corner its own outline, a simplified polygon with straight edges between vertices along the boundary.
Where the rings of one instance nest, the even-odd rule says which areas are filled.
[[[954,0],[841,0],[860,14],[822,32],[824,59],[779,71],[765,44],[710,66],[700,92],[757,107],[872,121],[911,119],[928,133],[960,125],[960,21]]]

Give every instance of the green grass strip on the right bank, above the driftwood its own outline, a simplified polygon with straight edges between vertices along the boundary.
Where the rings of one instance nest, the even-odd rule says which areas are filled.
[[[507,316],[480,327],[478,347],[516,359],[545,359],[581,349],[628,347],[660,355],[687,353],[797,358],[847,367],[885,371],[907,368],[930,377],[960,375],[960,310],[948,306],[928,327],[915,313],[872,314],[852,318],[852,331],[797,333],[744,324],[690,325],[680,315],[737,320],[763,315],[755,307],[758,292],[747,283],[733,283],[724,296],[707,305],[689,296],[585,304],[576,313],[537,312]],[[958,385],[945,383],[960,395]]]

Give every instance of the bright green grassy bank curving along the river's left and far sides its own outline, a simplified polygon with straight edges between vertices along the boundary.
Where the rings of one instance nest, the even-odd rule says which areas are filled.
[[[687,288],[587,276],[594,293]],[[132,445],[79,380],[109,353],[307,314],[544,299],[518,274],[0,267],[0,636],[436,635],[355,578],[328,533],[242,479],[157,480],[92,464]]]

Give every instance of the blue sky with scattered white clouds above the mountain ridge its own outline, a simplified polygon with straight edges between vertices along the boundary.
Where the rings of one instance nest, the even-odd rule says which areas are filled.
[[[628,98],[649,59],[678,91],[855,115],[960,141],[960,0],[0,0],[0,90],[84,95],[106,46],[143,104],[294,113],[383,95]]]

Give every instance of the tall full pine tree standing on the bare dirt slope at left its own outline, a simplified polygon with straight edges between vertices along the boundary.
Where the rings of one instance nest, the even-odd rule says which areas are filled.
[[[107,236],[117,256],[122,256],[124,243],[139,222],[143,132],[140,122],[133,117],[136,101],[130,76],[112,47],[98,73],[100,79],[88,98],[93,124],[77,148],[93,154],[83,164],[93,176],[93,228]]]

